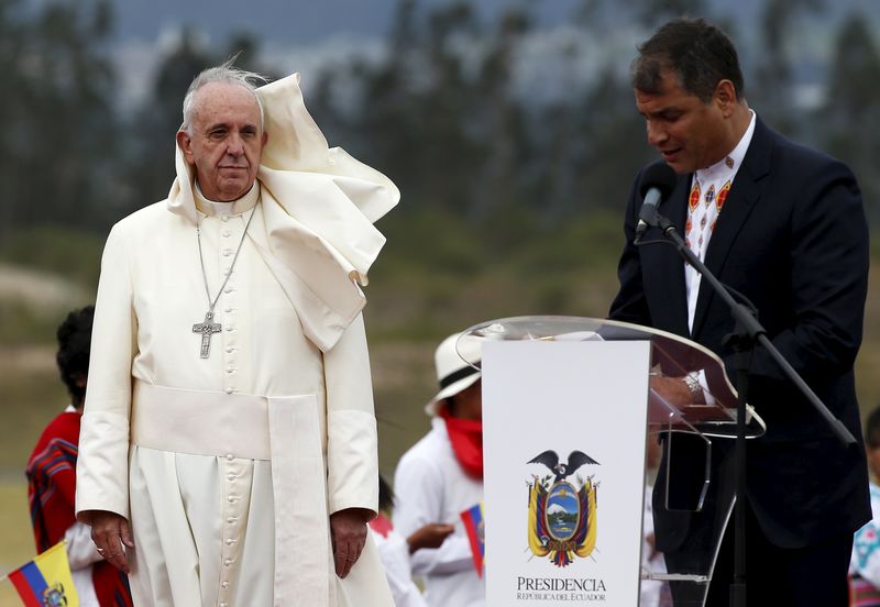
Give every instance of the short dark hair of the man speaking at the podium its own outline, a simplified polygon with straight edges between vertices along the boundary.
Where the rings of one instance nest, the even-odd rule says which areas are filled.
[[[737,99],[743,99],[746,84],[739,58],[730,38],[702,19],[675,19],[661,25],[638,47],[630,69],[632,88],[648,95],[660,92],[664,70],[679,77],[679,86],[704,103],[712,100],[721,80],[730,80]]]

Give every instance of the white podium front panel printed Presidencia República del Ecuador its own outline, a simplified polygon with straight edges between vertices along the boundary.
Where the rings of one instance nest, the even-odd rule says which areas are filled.
[[[486,341],[488,607],[638,605],[648,341]]]

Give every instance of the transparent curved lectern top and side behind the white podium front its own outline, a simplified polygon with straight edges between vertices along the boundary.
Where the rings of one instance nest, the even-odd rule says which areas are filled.
[[[637,497],[645,506],[639,605],[671,606],[671,595],[675,607],[697,607],[705,603],[734,506],[734,441],[725,439],[733,439],[736,432],[737,395],[722,361],[700,344],[671,333],[580,317],[486,321],[463,332],[458,351],[480,352],[479,345],[486,341],[634,340],[651,344],[651,376],[694,373],[706,397],[705,405],[675,407],[651,386],[645,492]],[[480,368],[480,360],[462,358]],[[763,421],[748,407],[747,435],[760,437],[765,430]],[[652,461],[657,448],[659,463]],[[492,559],[491,554],[486,558]]]

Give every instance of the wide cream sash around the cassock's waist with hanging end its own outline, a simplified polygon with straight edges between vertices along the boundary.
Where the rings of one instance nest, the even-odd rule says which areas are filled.
[[[136,382],[131,419],[131,442],[144,448],[271,461],[274,605],[336,604],[315,395],[262,397]]]

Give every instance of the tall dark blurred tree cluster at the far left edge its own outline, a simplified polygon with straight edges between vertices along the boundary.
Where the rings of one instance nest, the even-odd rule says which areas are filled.
[[[36,223],[86,225],[106,202],[98,183],[118,144],[111,30],[106,0],[0,1],[0,241]]]

